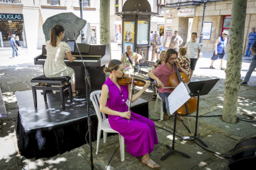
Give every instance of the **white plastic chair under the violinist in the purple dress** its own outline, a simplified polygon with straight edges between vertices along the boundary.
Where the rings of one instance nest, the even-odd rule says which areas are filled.
[[[96,155],[98,155],[101,130],[103,131],[103,143],[106,143],[108,132],[119,134],[117,131],[114,131],[110,127],[108,119],[105,116],[105,113],[100,112],[100,94],[101,94],[101,91],[94,91],[90,95],[90,99],[92,100],[93,106],[96,111],[96,115],[98,117],[98,134],[97,134]],[[121,161],[124,161],[124,137],[122,137],[120,134],[119,134],[119,143],[120,143]]]

